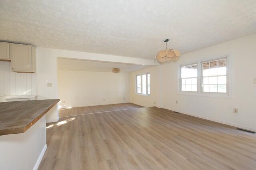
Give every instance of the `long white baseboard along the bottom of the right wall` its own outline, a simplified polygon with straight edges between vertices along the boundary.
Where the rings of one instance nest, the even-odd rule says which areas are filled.
[[[194,115],[194,114],[191,114],[191,113],[184,113],[184,112],[172,110],[172,109],[169,109],[169,108],[166,108],[166,107],[162,107],[162,108],[163,108],[163,109],[170,110],[170,111],[175,111],[175,112],[178,112],[178,113],[182,113],[182,114],[185,114],[185,115],[190,115],[190,116],[198,117],[198,118],[201,118],[201,119],[206,119],[206,120],[208,120],[208,121],[213,121],[213,122],[217,122],[217,123],[222,123],[222,124],[224,124],[224,125],[229,125],[229,126],[232,126],[232,127],[238,127],[238,128],[242,128],[242,129],[251,130],[251,131],[256,132],[256,129],[255,129],[255,128],[250,128],[250,127],[246,127],[246,126],[243,126],[243,125],[237,125],[237,124],[234,124],[234,123],[229,123],[229,122],[225,122],[225,121],[220,121],[220,120],[217,120],[217,119],[212,119],[212,118],[204,117],[204,116],[201,116],[201,115]]]

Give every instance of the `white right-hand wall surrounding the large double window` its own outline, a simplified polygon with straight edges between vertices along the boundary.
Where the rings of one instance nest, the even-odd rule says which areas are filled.
[[[230,55],[233,60],[233,95],[230,99],[181,95],[178,65]],[[158,66],[157,97],[166,109],[256,131],[256,34],[181,55],[178,61]],[[158,88],[159,89],[159,88]],[[178,104],[176,104],[178,100]],[[238,114],[233,113],[238,108]]]

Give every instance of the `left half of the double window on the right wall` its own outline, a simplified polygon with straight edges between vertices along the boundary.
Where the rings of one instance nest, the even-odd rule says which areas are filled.
[[[197,64],[180,67],[181,91],[197,91]]]

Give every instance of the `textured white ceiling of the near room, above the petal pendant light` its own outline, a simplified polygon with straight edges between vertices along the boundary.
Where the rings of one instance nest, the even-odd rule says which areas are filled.
[[[256,0],[1,0],[0,40],[154,59],[256,32]]]

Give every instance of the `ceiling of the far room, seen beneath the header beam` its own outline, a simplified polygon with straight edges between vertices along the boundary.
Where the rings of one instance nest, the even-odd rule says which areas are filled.
[[[113,68],[120,68],[121,72],[132,72],[144,69],[150,66],[133,65],[133,64],[120,64],[120,63],[106,63],[96,61],[86,61],[78,59],[58,59],[59,70],[72,70],[72,71],[103,71],[112,72]]]

